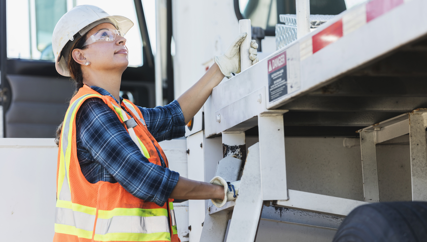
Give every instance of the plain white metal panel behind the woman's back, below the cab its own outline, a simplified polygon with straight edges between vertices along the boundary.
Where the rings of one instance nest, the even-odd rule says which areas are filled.
[[[0,139],[1,241],[52,241],[58,147],[54,139]]]

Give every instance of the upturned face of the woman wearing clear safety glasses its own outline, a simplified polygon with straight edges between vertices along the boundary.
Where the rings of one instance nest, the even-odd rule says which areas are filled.
[[[112,24],[103,23],[87,34],[87,39],[99,30],[116,28]],[[86,39],[86,40],[87,40]],[[97,41],[82,50],[84,58],[90,62],[90,68],[94,70],[117,70],[124,71],[128,67],[128,48],[125,46],[126,39],[116,35],[114,41]]]

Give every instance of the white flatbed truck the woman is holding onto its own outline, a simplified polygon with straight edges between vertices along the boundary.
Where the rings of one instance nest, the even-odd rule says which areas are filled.
[[[135,12],[144,22],[138,2]],[[145,85],[151,92],[157,87],[156,103],[170,101],[198,80],[213,63],[212,56],[222,53],[240,30],[248,30],[245,21],[242,26],[238,21],[245,13],[271,35],[271,27],[280,24],[279,13],[295,13],[277,9],[292,9],[292,2],[158,0],[156,82],[127,81],[125,86]],[[321,3],[311,1],[319,9]],[[311,32],[298,29],[302,36],[281,49],[276,50],[275,37],[265,36],[261,61],[243,64],[241,73],[214,88],[188,125],[186,140],[161,144],[171,169],[182,176],[241,179],[236,202],[223,208],[196,200],[174,205],[182,241],[330,242],[360,205],[427,201],[427,2],[345,3],[348,9],[335,9],[337,13],[312,8],[313,14],[336,16]],[[302,13],[308,22],[309,15]],[[148,31],[140,22],[147,46]],[[154,71],[145,62],[149,56],[140,69]],[[158,87],[170,85],[172,59],[174,89],[169,95],[170,90],[166,94]],[[21,100],[13,87],[23,73],[2,73],[11,83],[11,112]],[[127,90],[135,98],[141,93]],[[12,115],[5,116],[13,124]],[[0,181],[7,184],[1,190],[7,198],[0,209],[3,238],[50,240],[53,139],[4,138],[0,147]],[[426,229],[426,224],[416,224],[421,227],[414,227],[414,233]]]

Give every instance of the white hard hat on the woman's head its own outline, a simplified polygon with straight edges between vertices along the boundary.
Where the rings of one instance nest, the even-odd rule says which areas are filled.
[[[66,59],[74,41],[102,23],[110,23],[123,33],[127,33],[133,26],[130,19],[118,15],[108,15],[104,10],[92,5],[76,6],[61,17],[52,34],[55,67],[59,74],[70,76]],[[62,53],[63,49],[64,53]]]

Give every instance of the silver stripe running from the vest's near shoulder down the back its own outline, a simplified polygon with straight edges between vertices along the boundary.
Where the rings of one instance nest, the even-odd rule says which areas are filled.
[[[71,201],[71,191],[69,190],[68,186],[68,179],[67,179],[67,170],[66,170],[66,148],[68,146],[68,132],[69,132],[69,123],[71,122],[71,117],[74,109],[76,108],[79,101],[84,98],[85,96],[90,95],[86,94],[84,96],[81,96],[80,98],[77,98],[69,109],[66,117],[66,121],[63,123],[64,130],[62,132],[62,151],[64,153],[64,169],[65,169],[65,177],[64,182],[62,184],[61,193],[59,194],[59,199],[64,201]]]

